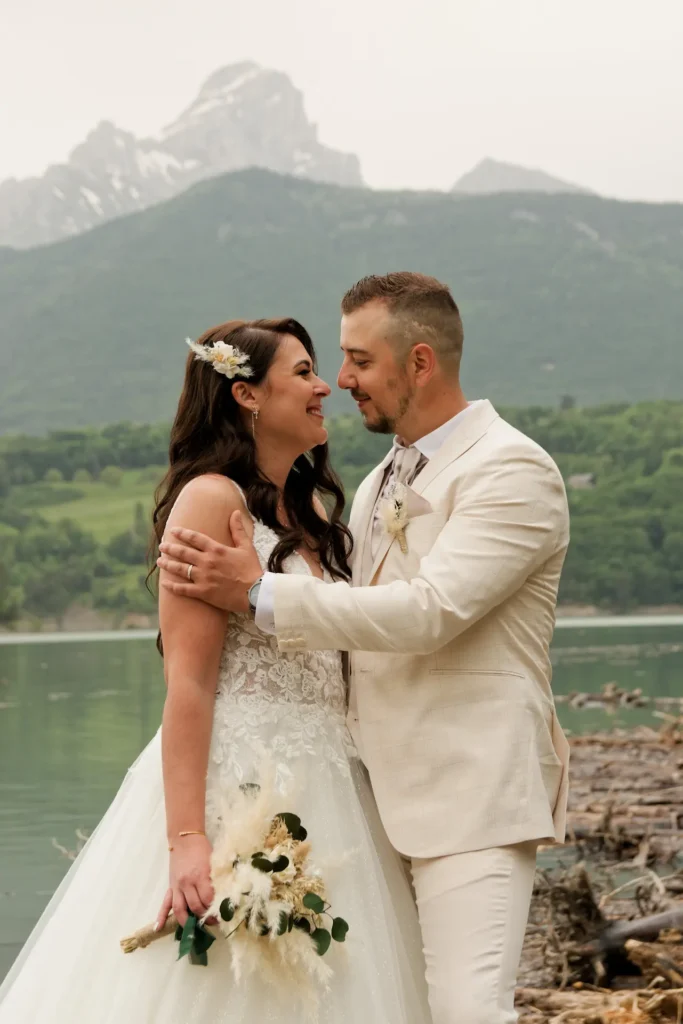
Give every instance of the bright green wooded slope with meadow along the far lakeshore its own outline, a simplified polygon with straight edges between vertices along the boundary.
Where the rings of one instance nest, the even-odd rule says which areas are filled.
[[[624,611],[683,604],[683,401],[501,409],[558,462],[571,545],[564,603]],[[152,494],[168,428],[118,424],[0,438],[0,624],[74,605],[154,610],[143,587]],[[331,424],[349,497],[388,438]]]

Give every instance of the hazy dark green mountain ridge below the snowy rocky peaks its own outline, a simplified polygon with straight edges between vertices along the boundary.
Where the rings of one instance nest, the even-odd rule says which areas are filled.
[[[254,170],[0,252],[0,432],[168,419],[184,337],[234,316],[299,317],[333,379],[342,293],[405,268],[453,287],[472,397],[683,396],[683,206],[376,193]]]

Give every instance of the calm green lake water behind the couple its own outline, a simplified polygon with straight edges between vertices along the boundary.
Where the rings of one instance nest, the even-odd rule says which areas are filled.
[[[159,726],[164,683],[152,635],[0,638],[0,977],[69,867],[52,845],[92,830]],[[565,620],[554,689],[604,683],[683,696],[683,618]],[[651,711],[559,708],[568,729],[651,722]]]

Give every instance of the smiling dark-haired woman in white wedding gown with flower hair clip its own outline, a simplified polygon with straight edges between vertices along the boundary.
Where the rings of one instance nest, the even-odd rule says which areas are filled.
[[[346,579],[350,537],[323,416],[330,388],[306,331],[293,319],[231,322],[190,348],[157,542],[185,526],[230,543],[241,510],[264,569]],[[119,946],[171,910],[181,925],[206,915],[222,800],[258,782],[266,763],[350,926],[326,957],[321,1024],[426,1024],[417,913],[346,730],[340,654],[280,653],[253,614],[228,617],[163,586],[159,613],[162,728],[0,988],[0,1024],[300,1019],[257,973],[234,980],[229,940],[214,943],[208,967],[176,962],[168,937],[127,956]]]

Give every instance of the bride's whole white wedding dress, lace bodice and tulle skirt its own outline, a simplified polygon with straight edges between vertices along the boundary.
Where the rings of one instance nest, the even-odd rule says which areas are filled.
[[[255,523],[263,566],[276,537]],[[288,572],[309,572],[298,554]],[[345,724],[336,651],[283,654],[253,617],[231,616],[207,776],[207,834],[221,794],[269,759],[287,807],[325,868],[350,930],[333,943],[319,1024],[427,1024],[424,959],[410,886],[379,820]],[[283,798],[285,802],[285,798]],[[347,856],[344,856],[347,855]],[[336,865],[336,866],[335,866]],[[257,975],[236,982],[229,939],[208,967],[176,961],[172,937],[124,955],[119,940],[153,922],[167,889],[161,733],[128,771],[0,987],[0,1024],[291,1024],[304,1015]]]

